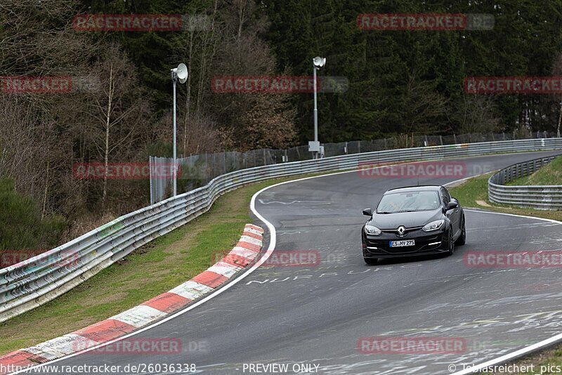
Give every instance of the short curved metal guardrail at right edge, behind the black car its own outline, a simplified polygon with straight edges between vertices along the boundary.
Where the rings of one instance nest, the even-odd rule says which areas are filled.
[[[553,157],[542,157],[504,168],[493,174],[488,180],[488,197],[490,202],[513,204],[533,209],[562,209],[562,185],[516,186],[505,185],[518,177],[528,176],[548,164]]]

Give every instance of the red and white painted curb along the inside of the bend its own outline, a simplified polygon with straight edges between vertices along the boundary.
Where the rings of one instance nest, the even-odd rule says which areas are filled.
[[[93,348],[145,327],[220,287],[261,251],[263,229],[247,224],[240,241],[220,261],[178,287],[102,322],[0,357],[0,368],[29,367]],[[5,372],[0,374],[6,374]]]

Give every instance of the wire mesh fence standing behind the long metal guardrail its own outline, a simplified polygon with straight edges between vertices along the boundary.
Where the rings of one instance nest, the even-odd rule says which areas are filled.
[[[532,133],[530,138],[554,138],[556,134]],[[408,136],[374,140],[353,140],[340,143],[325,143],[324,157],[333,157],[360,152],[396,150],[408,147],[456,145],[459,143],[493,142],[517,139],[513,133],[468,133],[452,136]],[[216,176],[240,169],[254,168],[285,162],[299,162],[314,158],[308,145],[291,147],[287,150],[259,149],[247,152],[227,151],[213,154],[197,154],[177,159],[178,194],[188,192],[209,183]],[[158,173],[159,165],[170,165],[174,160],[166,157],[150,157],[150,204],[171,197],[172,178],[170,173]]]

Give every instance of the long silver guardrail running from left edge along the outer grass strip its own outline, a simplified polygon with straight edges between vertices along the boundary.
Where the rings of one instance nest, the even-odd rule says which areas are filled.
[[[67,244],[0,270],[0,322],[51,301],[152,239],[200,216],[217,197],[247,183],[355,169],[362,163],[561,149],[562,138],[506,140],[348,154],[226,173],[203,187],[121,216]]]

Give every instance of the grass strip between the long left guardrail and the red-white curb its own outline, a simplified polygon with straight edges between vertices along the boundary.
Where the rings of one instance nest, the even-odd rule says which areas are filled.
[[[301,177],[228,192],[199,218],[137,249],[55,300],[0,323],[0,355],[107,319],[206,270],[215,263],[216,252],[228,253],[244,225],[252,222],[249,202],[257,191]]]

